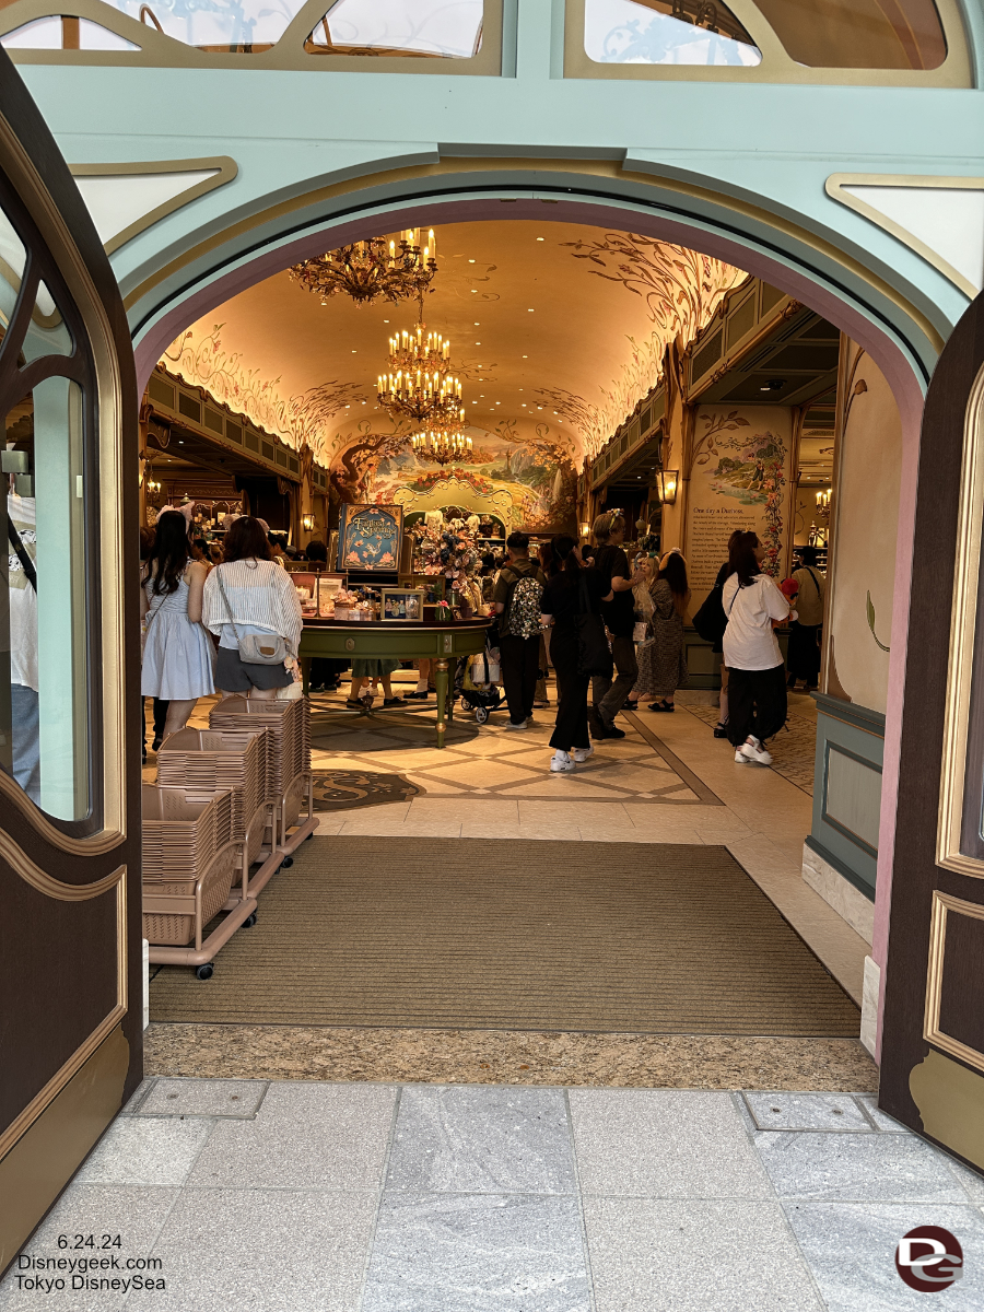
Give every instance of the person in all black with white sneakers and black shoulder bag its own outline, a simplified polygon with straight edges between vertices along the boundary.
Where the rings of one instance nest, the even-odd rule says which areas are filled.
[[[577,669],[577,628],[575,617],[584,613],[597,615],[602,601],[611,593],[602,593],[602,580],[597,569],[583,567],[573,538],[554,539],[554,559],[560,567],[543,590],[542,622],[550,628],[550,652],[556,670],[558,711],[550,745],[554,773],[573,770],[575,762],[586,761],[594,748],[588,736],[588,684],[589,674]],[[584,586],[583,586],[584,585]],[[586,598],[585,598],[586,593]]]

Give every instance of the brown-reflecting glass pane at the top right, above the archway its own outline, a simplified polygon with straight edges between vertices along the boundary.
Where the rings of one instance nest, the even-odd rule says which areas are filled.
[[[938,68],[946,37],[933,0],[756,0],[810,68]]]

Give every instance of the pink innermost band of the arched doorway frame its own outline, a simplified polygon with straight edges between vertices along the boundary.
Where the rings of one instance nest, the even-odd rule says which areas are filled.
[[[544,222],[584,223],[596,227],[625,230],[659,237],[703,251],[747,269],[764,281],[779,287],[821,314],[832,324],[846,332],[878,363],[886,375],[899,405],[903,428],[903,468],[899,504],[899,537],[896,543],[895,601],[892,618],[891,664],[888,703],[886,714],[884,773],[882,783],[882,821],[879,828],[878,884],[875,896],[875,935],[871,955],[884,966],[888,946],[888,918],[892,891],[892,853],[895,848],[895,807],[899,785],[899,753],[901,741],[903,685],[909,625],[909,583],[912,575],[912,539],[916,517],[916,479],[918,471],[920,424],[924,394],[918,378],[899,346],[871,323],[850,302],[828,290],[795,269],[790,269],[773,256],[768,256],[731,237],[707,231],[695,223],[668,219],[661,215],[640,214],[635,209],[627,214],[618,205],[592,205],[583,201],[551,203],[544,213],[538,199],[517,199],[504,210],[499,198],[485,199],[428,199],[405,209],[387,211],[384,219],[378,213],[371,216],[327,223],[315,234],[306,234],[295,241],[257,256],[248,264],[232,269],[214,282],[190,293],[185,300],[169,310],[136,346],[136,370],[140,388],[164,352],[180,332],[223,302],[279,273],[291,264],[331,247],[344,245],[374,236],[384,226],[386,231],[428,226],[436,222],[464,223],[478,220],[539,219]],[[884,980],[884,972],[883,972]],[[878,1043],[882,1042],[882,1006],[878,1009]]]

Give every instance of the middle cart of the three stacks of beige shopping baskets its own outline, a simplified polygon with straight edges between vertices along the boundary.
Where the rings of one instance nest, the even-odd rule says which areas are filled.
[[[251,729],[181,729],[161,745],[157,756],[157,782],[197,789],[232,790],[232,837],[245,844],[247,871],[261,862],[260,870],[248,875],[252,896],[257,880],[266,883],[281,865],[274,846],[265,846],[278,804],[266,785],[266,743],[269,731]],[[235,909],[235,895],[226,911]]]

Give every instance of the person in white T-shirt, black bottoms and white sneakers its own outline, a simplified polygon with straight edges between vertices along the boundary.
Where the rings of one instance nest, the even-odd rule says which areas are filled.
[[[771,765],[765,740],[786,723],[786,666],[774,628],[796,613],[775,583],[760,573],[764,559],[757,534],[732,534],[722,606],[728,618],[728,739],[739,765]]]

